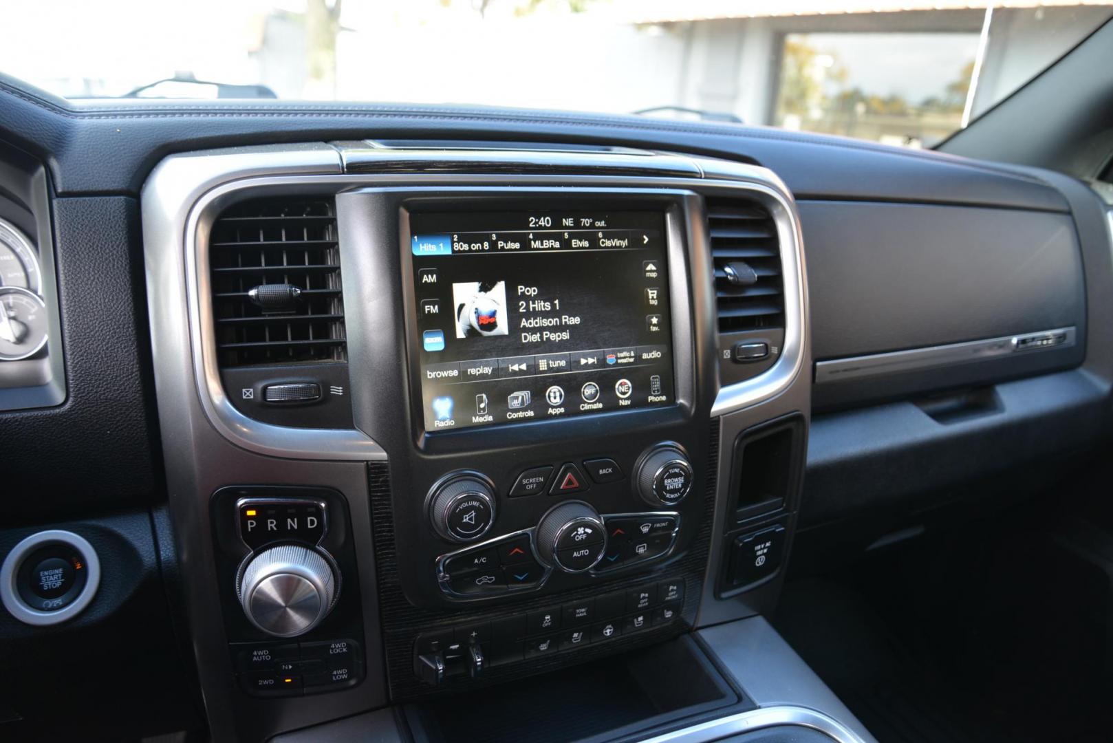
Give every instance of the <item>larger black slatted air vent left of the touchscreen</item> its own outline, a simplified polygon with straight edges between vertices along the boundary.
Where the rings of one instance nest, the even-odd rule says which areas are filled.
[[[213,225],[209,265],[223,369],[346,360],[331,201],[229,208]]]

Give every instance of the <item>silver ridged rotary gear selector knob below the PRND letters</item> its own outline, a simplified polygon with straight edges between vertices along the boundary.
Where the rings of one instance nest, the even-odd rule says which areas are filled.
[[[256,555],[236,586],[247,619],[275,637],[303,635],[324,619],[336,602],[336,575],[308,547],[283,545]]]

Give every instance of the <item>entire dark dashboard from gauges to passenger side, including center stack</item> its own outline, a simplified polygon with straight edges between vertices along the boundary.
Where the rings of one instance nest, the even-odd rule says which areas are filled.
[[[128,637],[76,703],[124,736],[509,740],[474,710],[582,684],[656,705],[583,737],[870,740],[761,624],[789,556],[1109,430],[1107,208],[1051,172],[0,95],[0,731],[67,732],[36,690]],[[121,688],[149,715],[106,722]]]

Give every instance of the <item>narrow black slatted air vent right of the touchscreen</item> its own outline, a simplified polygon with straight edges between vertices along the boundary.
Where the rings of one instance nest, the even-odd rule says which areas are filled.
[[[719,332],[785,326],[777,225],[750,201],[708,198]]]

